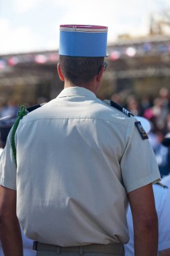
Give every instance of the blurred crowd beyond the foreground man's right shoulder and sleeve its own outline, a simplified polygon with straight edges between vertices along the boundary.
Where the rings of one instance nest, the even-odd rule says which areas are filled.
[[[165,137],[170,137],[170,90],[160,88],[157,97],[151,95],[138,99],[135,95],[124,98],[122,93],[113,94],[112,100],[121,104],[135,116],[145,117],[151,123],[148,133],[155,152],[161,176],[170,172],[170,148],[165,145]]]

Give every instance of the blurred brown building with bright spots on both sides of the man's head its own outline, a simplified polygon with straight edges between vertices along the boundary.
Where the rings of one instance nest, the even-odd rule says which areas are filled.
[[[108,46],[108,68],[98,96],[120,94],[124,101],[134,94],[139,100],[156,97],[170,84],[170,10],[151,16],[147,36],[120,35]],[[0,104],[3,99],[17,104],[50,100],[62,90],[56,73],[57,51],[0,56]]]

